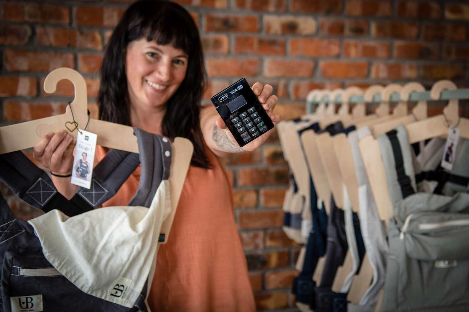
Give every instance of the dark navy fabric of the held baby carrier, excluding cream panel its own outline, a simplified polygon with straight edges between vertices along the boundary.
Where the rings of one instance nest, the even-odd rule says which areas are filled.
[[[139,154],[110,150],[94,169],[91,189],[79,188],[71,200],[61,196],[49,176],[22,152],[0,155],[0,180],[24,202],[45,211],[41,217],[57,210],[67,218],[83,217],[87,211],[92,212],[93,208],[111,198],[141,163],[139,188],[129,206],[149,207],[160,183],[169,177],[171,157],[165,157],[164,152],[171,151],[171,144],[167,138],[137,128],[134,128],[134,134]],[[132,210],[132,207],[127,208]],[[33,227],[15,218],[1,195],[0,224],[0,257],[3,259],[0,311],[148,311],[145,304],[147,282],[132,297],[136,299],[127,305],[112,301],[124,291],[120,284],[103,290],[106,296],[101,297],[87,293],[83,285],[77,287],[70,281],[70,276],[64,276],[61,269],[47,260]],[[92,229],[86,231],[93,235]],[[66,262],[67,259],[63,263],[65,267]]]

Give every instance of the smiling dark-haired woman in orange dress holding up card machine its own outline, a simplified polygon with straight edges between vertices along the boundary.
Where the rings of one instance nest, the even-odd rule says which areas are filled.
[[[194,155],[171,239],[161,245],[148,302],[154,311],[253,311],[254,299],[233,216],[227,175],[215,155],[252,151],[269,133],[240,148],[212,105],[201,108],[206,81],[197,26],[169,1],[132,4],[114,29],[101,68],[99,116],[169,138],[189,138]],[[272,87],[252,87],[274,124]],[[64,132],[48,134],[34,157],[55,175],[71,172],[73,142]],[[97,148],[98,160],[106,151]],[[140,168],[106,205],[125,205],[138,187]],[[53,176],[71,197],[76,186]]]

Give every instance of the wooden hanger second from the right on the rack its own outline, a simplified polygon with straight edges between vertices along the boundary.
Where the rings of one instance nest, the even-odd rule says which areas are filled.
[[[418,82],[409,82],[401,89],[401,100],[408,102],[409,95],[412,92],[424,92],[425,87]],[[398,117],[384,123],[378,123],[373,126],[373,135],[378,137],[379,135],[386,133],[394,129],[398,124],[413,123],[417,120],[423,120],[427,118],[427,101],[418,101],[416,107],[412,109],[412,113],[406,116]]]

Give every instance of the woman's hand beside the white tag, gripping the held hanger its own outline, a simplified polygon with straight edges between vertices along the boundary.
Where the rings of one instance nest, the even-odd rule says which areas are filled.
[[[73,137],[63,130],[55,134],[47,133],[34,146],[33,157],[54,174],[71,174],[76,143],[72,139]]]

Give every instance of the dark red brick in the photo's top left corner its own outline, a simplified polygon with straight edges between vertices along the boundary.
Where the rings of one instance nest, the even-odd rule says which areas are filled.
[[[3,2],[1,19],[15,22],[70,23],[66,6],[48,3]]]

